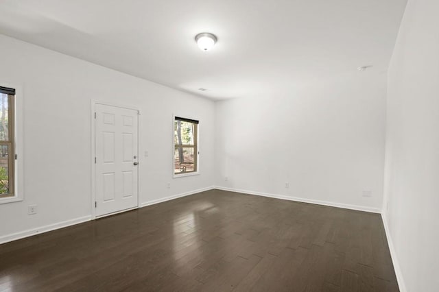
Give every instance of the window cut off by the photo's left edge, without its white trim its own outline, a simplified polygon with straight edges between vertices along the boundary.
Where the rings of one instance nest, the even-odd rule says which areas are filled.
[[[14,197],[15,90],[0,87],[0,198]]]

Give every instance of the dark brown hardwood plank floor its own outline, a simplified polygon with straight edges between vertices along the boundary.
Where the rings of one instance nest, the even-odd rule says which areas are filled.
[[[206,191],[0,245],[0,291],[398,291],[381,216]]]

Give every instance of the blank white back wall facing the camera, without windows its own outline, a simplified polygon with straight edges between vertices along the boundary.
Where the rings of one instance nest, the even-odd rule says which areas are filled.
[[[354,69],[287,96],[217,102],[215,184],[381,210],[385,82]]]

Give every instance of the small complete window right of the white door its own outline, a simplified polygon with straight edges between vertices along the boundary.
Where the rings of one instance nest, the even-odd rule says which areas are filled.
[[[174,118],[174,174],[198,171],[198,121]]]

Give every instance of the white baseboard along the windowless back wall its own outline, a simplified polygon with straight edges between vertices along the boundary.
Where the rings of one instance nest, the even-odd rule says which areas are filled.
[[[349,205],[349,204],[342,204],[342,203],[320,201],[318,199],[305,199],[302,197],[290,197],[287,195],[274,195],[274,194],[270,194],[270,193],[261,193],[261,192],[256,192],[256,191],[241,190],[238,188],[226,188],[224,186],[214,186],[213,188],[217,188],[217,189],[222,190],[222,191],[235,192],[235,193],[259,195],[262,197],[272,197],[274,199],[287,199],[289,201],[296,201],[296,202],[302,202],[302,203],[318,204],[318,205],[351,209],[351,210],[358,210],[358,211],[364,211],[364,212],[381,213],[381,210],[379,208],[370,208],[370,207],[365,207],[365,206],[357,206],[357,205]]]

